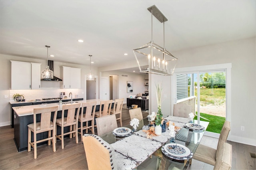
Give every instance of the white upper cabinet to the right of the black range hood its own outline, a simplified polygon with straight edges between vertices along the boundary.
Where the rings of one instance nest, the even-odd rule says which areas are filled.
[[[62,66],[62,89],[81,88],[81,69]]]

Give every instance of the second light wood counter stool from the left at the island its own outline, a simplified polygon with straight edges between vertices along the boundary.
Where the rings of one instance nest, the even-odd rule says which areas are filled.
[[[72,138],[72,134],[75,133],[76,143],[78,143],[78,116],[80,112],[81,103],[76,103],[72,105],[62,105],[62,115],[60,119],[56,120],[56,127],[61,127],[61,134],[57,135],[57,130],[55,133],[55,137],[61,140],[61,148],[64,149],[64,136],[66,134],[70,134],[70,138]],[[65,111],[68,111],[67,117],[64,117]],[[70,127],[70,131],[64,133],[64,127]]]

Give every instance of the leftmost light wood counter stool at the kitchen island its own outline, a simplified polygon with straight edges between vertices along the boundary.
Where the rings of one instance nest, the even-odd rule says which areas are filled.
[[[36,144],[48,140],[48,145],[52,141],[53,152],[56,152],[56,139],[54,137],[56,131],[56,117],[58,106],[34,109],[34,123],[28,125],[28,152],[31,151],[31,146],[34,148],[34,159],[37,158]],[[51,121],[52,112],[54,112],[53,120]],[[36,122],[36,115],[41,114],[40,122]],[[31,132],[34,133],[34,142],[31,142]],[[36,140],[36,134],[48,132],[48,138]],[[52,135],[51,135],[52,132]]]

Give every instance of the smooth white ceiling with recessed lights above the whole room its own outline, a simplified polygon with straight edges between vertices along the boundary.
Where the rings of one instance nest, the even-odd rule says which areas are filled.
[[[152,5],[168,19],[171,53],[256,35],[255,0],[0,0],[0,53],[46,59],[50,45],[49,59],[59,62],[89,65],[88,55],[96,67],[135,61],[132,49],[151,40]],[[154,17],[153,40],[163,46]]]

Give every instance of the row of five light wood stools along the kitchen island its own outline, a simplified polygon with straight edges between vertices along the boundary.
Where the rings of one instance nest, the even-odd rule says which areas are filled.
[[[88,129],[90,129],[92,131],[92,134],[94,134],[94,126],[95,126],[94,116],[101,117],[106,114],[108,115],[112,107],[112,100],[101,101],[100,109],[98,113],[96,112],[95,114],[96,105],[97,105],[96,101],[90,102],[90,103],[82,103],[82,104],[76,103],[72,105],[63,105],[62,111],[61,111],[61,118],[58,118],[58,119],[57,119],[58,106],[34,109],[34,115],[33,115],[34,123],[28,125],[28,152],[31,151],[31,146],[32,146],[34,148],[34,158],[36,159],[37,143],[48,141],[48,145],[50,145],[52,142],[53,152],[56,152],[56,138],[61,140],[62,149],[63,149],[65,135],[69,134],[70,138],[75,137],[76,143],[78,143],[78,133],[81,134],[81,140],[82,140],[82,136],[83,136],[82,134],[84,130],[86,130],[85,132],[88,133]],[[105,107],[104,109],[103,105],[108,105],[108,107]],[[119,108],[119,110],[122,111],[121,109],[122,107],[120,108],[119,106],[118,108],[116,108],[115,106],[116,106],[116,103],[114,103],[114,109]],[[114,109],[111,110],[112,114],[115,114],[115,112],[113,112]],[[106,114],[104,112],[106,112]],[[122,118],[120,119],[120,123],[122,123]],[[80,127],[78,127],[79,124],[80,124]],[[57,134],[57,127],[59,127],[58,131],[61,131],[60,134]],[[69,128],[69,130],[67,128],[64,130],[65,127]],[[78,131],[79,129],[80,131]],[[31,132],[33,132],[33,134]],[[37,136],[38,136],[37,134],[42,132],[46,132],[48,133],[48,135],[46,136],[44,134],[45,138],[39,137],[39,140],[37,140]],[[31,140],[32,136],[34,139],[33,142]]]

